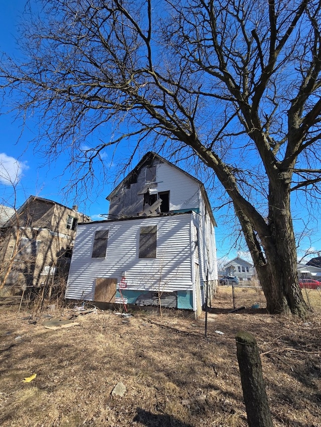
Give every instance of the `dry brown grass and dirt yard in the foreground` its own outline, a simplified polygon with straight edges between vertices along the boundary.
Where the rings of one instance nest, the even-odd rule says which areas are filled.
[[[321,427],[321,316],[229,313],[216,302],[207,339],[204,315],[174,310],[129,318],[96,310],[54,330],[44,322],[79,311],[2,307],[0,425],[246,426],[235,334],[247,330],[259,345],[274,426]],[[122,396],[113,394],[119,382]]]

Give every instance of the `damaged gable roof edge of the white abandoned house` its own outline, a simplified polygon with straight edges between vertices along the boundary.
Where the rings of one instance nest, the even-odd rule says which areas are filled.
[[[217,227],[214,215],[213,215],[213,211],[212,211],[212,207],[207,195],[207,192],[205,190],[204,184],[198,180],[197,178],[195,178],[194,176],[190,175],[189,173],[187,173],[186,171],[184,171],[183,169],[179,168],[178,166],[174,165],[173,163],[169,162],[168,160],[164,159],[164,157],[159,156],[159,154],[154,153],[153,151],[148,151],[138,162],[138,164],[132,169],[131,172],[129,172],[129,174],[112,190],[112,192],[110,194],[108,194],[108,196],[106,197],[106,199],[108,201],[110,201],[110,199],[114,196],[114,194],[117,193],[117,191],[119,191],[122,186],[127,183],[130,182],[132,179],[134,179],[135,176],[137,176],[140,172],[140,170],[146,166],[146,165],[151,165],[153,163],[154,160],[158,160],[159,163],[167,163],[169,166],[177,169],[178,171],[180,171],[181,173],[183,173],[184,175],[186,175],[187,177],[189,177],[190,179],[194,180],[195,182],[198,183],[202,196],[204,198],[204,202],[206,204],[206,209],[209,212],[209,215],[211,217],[211,221],[214,225],[214,227]]]

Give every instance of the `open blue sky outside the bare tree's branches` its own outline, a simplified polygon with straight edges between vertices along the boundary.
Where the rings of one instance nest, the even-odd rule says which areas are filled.
[[[13,0],[7,2],[0,0],[1,15],[0,15],[0,51],[7,52],[12,56],[19,56],[17,49],[17,25],[20,21],[20,16],[24,10],[26,0]],[[6,101],[7,103],[7,101]],[[8,104],[8,103],[7,103]],[[8,105],[3,104],[2,113],[8,110]],[[34,147],[30,145],[33,140],[35,128],[33,128],[32,121],[27,122],[27,127],[21,127],[21,121],[14,121],[14,116],[10,113],[0,116],[0,132],[1,132],[1,146],[0,146],[0,172],[1,165],[5,167],[6,173],[8,172],[8,179],[15,180],[15,188],[17,190],[17,204],[20,206],[29,195],[37,195],[40,197],[48,198],[68,206],[79,204],[80,210],[90,215],[93,220],[100,219],[99,214],[108,212],[108,202],[105,197],[112,190],[109,184],[100,187],[101,192],[98,193],[93,189],[91,201],[86,205],[79,203],[75,200],[73,195],[68,195],[66,199],[65,194],[61,191],[62,188],[68,186],[70,180],[70,173],[64,171],[68,159],[63,155],[58,161],[48,164],[46,160],[37,155]],[[119,153],[124,158],[125,153]],[[138,162],[138,158],[134,164]],[[117,157],[111,162],[111,159],[106,157],[106,162],[109,162],[110,174],[115,175],[117,166]],[[0,177],[0,203],[12,205],[13,204],[13,186],[8,183],[6,176]],[[212,200],[212,205],[215,207],[215,200]],[[299,199],[293,203],[294,213],[294,226],[297,233],[304,233],[304,217],[308,207],[300,205]],[[305,211],[305,212],[304,212]],[[221,215],[221,216],[220,216]],[[224,259],[232,259],[237,255],[236,250],[231,250],[231,242],[228,239],[229,230],[226,224],[223,223],[224,211],[216,214],[218,227],[216,229],[216,239],[218,248],[218,257]],[[316,215],[316,218],[319,215]],[[302,219],[295,218],[303,217]],[[313,230],[311,234],[308,230]],[[301,257],[304,251],[320,250],[321,251],[321,232],[318,229],[317,219],[307,224],[306,236],[300,241],[298,248],[298,256]],[[248,253],[244,247],[244,252],[240,255],[248,259]],[[306,260],[308,260],[307,257]],[[305,260],[305,261],[306,261]]]

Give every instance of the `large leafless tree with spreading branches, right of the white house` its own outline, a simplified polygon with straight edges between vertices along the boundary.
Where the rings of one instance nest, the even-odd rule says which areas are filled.
[[[233,202],[268,310],[304,316],[290,194],[319,194],[320,6],[43,0],[2,85],[38,115],[45,154],[68,151],[80,177],[125,138],[198,156]]]

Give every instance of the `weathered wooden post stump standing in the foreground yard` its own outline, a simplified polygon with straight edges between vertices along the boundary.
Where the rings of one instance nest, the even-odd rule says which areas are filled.
[[[244,331],[235,339],[249,427],[273,427],[256,339]]]

